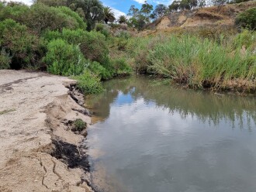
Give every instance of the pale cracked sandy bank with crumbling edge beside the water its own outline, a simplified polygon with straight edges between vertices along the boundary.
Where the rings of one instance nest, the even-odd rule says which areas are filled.
[[[0,70],[0,191],[91,191],[81,169],[69,169],[51,156],[52,139],[78,146],[83,137],[64,121],[81,118],[84,110],[58,77],[23,70]]]

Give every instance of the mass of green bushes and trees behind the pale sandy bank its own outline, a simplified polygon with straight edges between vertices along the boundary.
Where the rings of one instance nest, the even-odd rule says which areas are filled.
[[[84,4],[70,4],[74,12],[67,7],[71,2],[41,0],[31,7],[1,2],[0,69],[30,68],[72,76],[85,93],[102,91],[101,80],[130,74],[125,60],[109,57],[109,32],[91,30],[102,17],[85,19],[101,12],[102,4],[85,1],[100,9],[88,12]]]

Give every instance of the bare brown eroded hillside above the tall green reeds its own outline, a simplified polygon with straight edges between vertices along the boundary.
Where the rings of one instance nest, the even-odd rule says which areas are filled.
[[[201,9],[184,10],[182,12],[171,12],[161,19],[150,23],[147,30],[139,36],[150,33],[168,32],[176,29],[195,29],[207,27],[234,28],[234,20],[238,13],[256,7],[256,1],[243,2],[239,4],[213,6]]]

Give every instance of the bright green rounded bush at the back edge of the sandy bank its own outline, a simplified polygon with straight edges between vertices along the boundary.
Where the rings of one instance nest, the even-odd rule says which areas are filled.
[[[51,74],[78,75],[88,65],[79,46],[70,45],[62,39],[51,41],[47,50],[43,62],[47,63],[47,70]]]

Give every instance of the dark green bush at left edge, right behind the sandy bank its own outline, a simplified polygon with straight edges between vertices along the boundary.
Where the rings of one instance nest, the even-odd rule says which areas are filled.
[[[12,69],[35,64],[38,46],[38,37],[29,33],[26,26],[12,19],[0,22],[0,47],[12,55]]]

